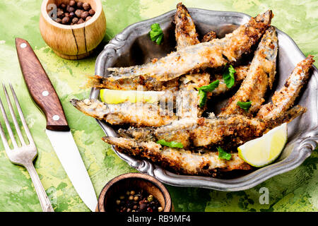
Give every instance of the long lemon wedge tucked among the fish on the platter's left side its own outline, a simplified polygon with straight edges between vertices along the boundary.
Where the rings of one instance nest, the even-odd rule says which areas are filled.
[[[158,102],[163,91],[140,91],[140,90],[100,90],[100,100],[107,104],[119,104],[122,102]]]

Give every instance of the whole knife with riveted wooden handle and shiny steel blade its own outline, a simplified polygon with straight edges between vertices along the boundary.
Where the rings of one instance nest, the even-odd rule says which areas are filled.
[[[94,187],[71,135],[59,97],[28,41],[16,38],[16,49],[29,93],[47,119],[47,137],[78,196],[95,211],[98,201]]]

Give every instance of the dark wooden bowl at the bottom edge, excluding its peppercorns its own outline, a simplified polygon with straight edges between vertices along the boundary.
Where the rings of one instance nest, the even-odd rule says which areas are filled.
[[[141,173],[128,173],[115,177],[108,182],[100,192],[96,212],[110,212],[114,206],[114,199],[127,190],[143,189],[152,194],[163,206],[163,212],[172,211],[172,201],[169,191],[158,179]]]

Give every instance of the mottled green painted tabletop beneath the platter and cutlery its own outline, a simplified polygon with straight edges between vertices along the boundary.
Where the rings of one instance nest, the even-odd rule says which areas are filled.
[[[127,25],[158,16],[175,8],[178,1],[107,0],[102,6],[107,18],[107,33],[102,45]],[[88,59],[68,61],[57,57],[42,40],[39,31],[42,1],[1,1],[0,4],[0,82],[11,82],[25,113],[37,145],[35,167],[52,200],[55,211],[89,211],[73,189],[45,135],[45,118],[35,107],[26,89],[14,37],[22,37],[35,49],[51,79],[66,112],[71,132],[83,157],[90,178],[99,194],[113,177],[136,172],[117,157],[110,146],[101,141],[104,135],[95,119],[73,108],[73,97],[88,97],[90,90],[79,88],[87,75],[94,74],[95,59],[100,50]],[[305,55],[318,56],[318,1],[307,0],[226,0],[183,1],[188,7],[218,11],[240,11],[251,16],[271,8],[273,25],[290,35]],[[101,45],[101,47],[102,47]],[[317,66],[317,63],[316,63]],[[3,99],[3,92],[0,92]],[[3,121],[1,121],[3,123]],[[315,151],[300,167],[273,177],[247,191],[221,192],[209,189],[167,186],[177,211],[317,211],[318,154]],[[259,189],[269,189],[269,204],[259,203]],[[28,172],[11,164],[0,142],[0,211],[41,211]]]

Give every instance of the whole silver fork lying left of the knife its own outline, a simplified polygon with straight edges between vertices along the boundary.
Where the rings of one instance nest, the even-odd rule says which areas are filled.
[[[2,128],[1,123],[0,123],[0,136],[2,139],[2,143],[4,143],[6,155],[8,156],[8,158],[11,162],[13,162],[14,164],[17,164],[17,165],[22,165],[23,167],[25,167],[28,170],[30,177],[32,179],[32,182],[35,186],[35,191],[37,192],[37,196],[39,197],[43,212],[54,212],[52,205],[49,202],[49,198],[47,197],[47,194],[45,192],[45,189],[43,188],[41,181],[40,181],[40,178],[37,175],[37,172],[35,171],[35,167],[33,165],[33,160],[37,156],[37,148],[36,148],[35,143],[33,141],[30,130],[28,129],[28,125],[26,124],[25,118],[23,117],[23,112],[22,112],[22,109],[21,109],[20,104],[18,102],[18,98],[16,97],[16,92],[14,92],[11,83],[9,83],[9,85],[11,88],[11,93],[13,95],[14,102],[16,103],[16,108],[18,109],[18,114],[20,115],[20,119],[21,119],[22,124],[23,124],[23,129],[26,133],[26,136],[28,137],[29,142],[27,144],[24,141],[24,138],[23,138],[22,133],[20,131],[20,127],[18,125],[18,121],[16,119],[16,114],[13,111],[11,100],[8,96],[8,92],[6,91],[6,86],[4,84],[2,84],[2,86],[4,88],[4,95],[6,96],[6,102],[8,104],[8,109],[11,113],[11,117],[13,119],[13,124],[16,128],[16,132],[18,133],[18,138],[19,138],[20,143],[21,143],[21,145],[19,147],[18,143],[16,142],[16,138],[13,136],[13,131],[10,127],[8,117],[6,116],[6,112],[4,110],[4,105],[2,104],[1,99],[0,99],[1,113],[2,113],[2,116],[4,117],[6,129],[8,130],[8,134],[11,138],[11,142],[13,145],[13,149],[11,149],[10,146],[8,145],[8,141],[6,140],[6,135],[4,133],[4,129]]]

